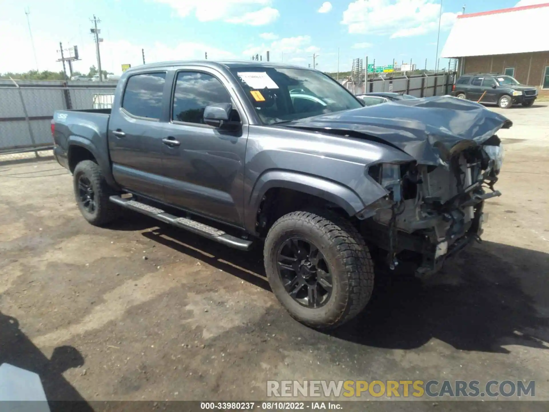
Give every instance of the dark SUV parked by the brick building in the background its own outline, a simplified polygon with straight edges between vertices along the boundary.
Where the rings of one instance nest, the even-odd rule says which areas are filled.
[[[464,74],[452,86],[452,96],[482,103],[497,103],[502,109],[513,104],[530,107],[537,97],[537,89],[521,85],[511,76],[496,73]]]

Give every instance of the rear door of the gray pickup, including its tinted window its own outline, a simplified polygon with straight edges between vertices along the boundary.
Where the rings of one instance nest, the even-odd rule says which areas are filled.
[[[165,136],[160,122],[165,112],[165,88],[165,71],[131,75],[109,120],[109,152],[115,181],[130,192],[160,201],[164,200],[161,175]]]

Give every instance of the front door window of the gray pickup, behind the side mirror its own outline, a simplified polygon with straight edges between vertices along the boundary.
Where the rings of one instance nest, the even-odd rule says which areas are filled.
[[[193,71],[177,74],[172,120],[204,124],[204,109],[215,103],[231,103],[231,95],[216,77]]]

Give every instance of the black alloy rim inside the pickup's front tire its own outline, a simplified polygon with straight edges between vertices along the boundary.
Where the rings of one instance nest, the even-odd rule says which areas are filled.
[[[284,289],[299,304],[320,308],[332,295],[332,275],[326,258],[311,242],[290,237],[278,249],[277,270]]]

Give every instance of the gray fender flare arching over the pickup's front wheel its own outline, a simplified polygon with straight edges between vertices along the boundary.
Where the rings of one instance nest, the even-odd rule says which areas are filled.
[[[246,205],[245,227],[256,232],[255,221],[261,199],[271,188],[292,189],[320,197],[344,209],[349,216],[366,207],[356,192],[340,183],[289,170],[270,170],[256,180]]]

